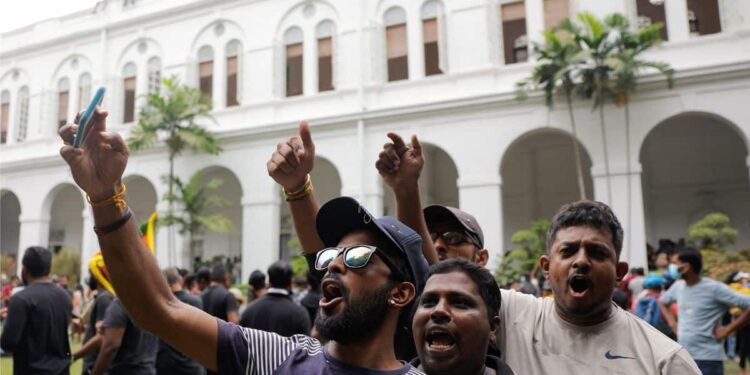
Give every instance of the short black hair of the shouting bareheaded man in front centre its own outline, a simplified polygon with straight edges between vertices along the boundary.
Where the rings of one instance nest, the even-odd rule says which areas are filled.
[[[474,282],[474,284],[476,284],[477,289],[479,290],[479,295],[482,297],[484,305],[487,308],[487,319],[491,325],[492,320],[500,313],[500,304],[502,303],[500,287],[497,285],[497,280],[495,280],[490,271],[486,268],[462,258],[447,259],[433,264],[430,267],[430,273],[427,279],[429,280],[433,275],[441,275],[451,272],[463,272]]]

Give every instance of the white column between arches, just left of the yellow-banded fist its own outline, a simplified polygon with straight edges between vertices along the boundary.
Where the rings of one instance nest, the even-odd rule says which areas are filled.
[[[271,263],[279,259],[279,215],[281,211],[278,195],[267,200],[242,200],[242,280],[250,277],[253,270],[265,272]]]

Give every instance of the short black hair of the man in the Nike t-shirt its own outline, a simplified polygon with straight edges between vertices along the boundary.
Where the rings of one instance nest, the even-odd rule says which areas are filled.
[[[560,229],[579,226],[596,229],[606,227],[612,234],[612,244],[615,247],[617,259],[620,259],[623,230],[617,216],[606,204],[589,200],[580,200],[560,207],[547,230],[547,251],[552,248],[552,243],[555,242],[555,236]]]

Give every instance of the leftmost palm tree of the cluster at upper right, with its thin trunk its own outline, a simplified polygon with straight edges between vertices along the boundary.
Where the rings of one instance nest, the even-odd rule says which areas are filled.
[[[578,27],[570,20],[562,21],[557,27],[544,32],[544,45],[534,43],[533,54],[537,65],[531,76],[516,84],[516,96],[524,99],[529,91],[544,90],[544,100],[548,108],[552,108],[555,96],[562,92],[570,115],[570,125],[573,131],[573,154],[576,164],[578,193],[580,199],[586,199],[586,186],[583,180],[583,165],[578,145],[578,130],[573,112],[573,91],[576,88],[576,78],[582,59],[585,57],[576,36]]]

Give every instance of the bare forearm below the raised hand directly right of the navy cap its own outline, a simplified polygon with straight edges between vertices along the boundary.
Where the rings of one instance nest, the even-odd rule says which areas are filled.
[[[422,237],[422,254],[427,259],[427,263],[437,263],[439,260],[437,251],[432,243],[432,237],[430,237],[427,222],[422,213],[419,185],[394,188],[393,192],[396,195],[396,216],[398,216],[398,220]]]

